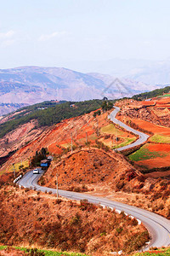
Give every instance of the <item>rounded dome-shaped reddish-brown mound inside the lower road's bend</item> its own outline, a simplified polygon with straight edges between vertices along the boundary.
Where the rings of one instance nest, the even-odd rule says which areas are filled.
[[[55,188],[56,174],[59,174],[59,189],[71,189],[87,185],[95,189],[95,185],[113,187],[116,177],[124,172],[131,172],[132,166],[121,154],[112,151],[106,153],[102,149],[86,148],[69,154],[59,163],[55,160],[42,177],[42,185]]]

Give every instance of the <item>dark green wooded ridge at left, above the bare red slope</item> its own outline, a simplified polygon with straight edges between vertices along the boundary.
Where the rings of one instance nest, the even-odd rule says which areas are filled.
[[[0,137],[5,136],[20,125],[31,120],[37,121],[37,126],[50,126],[59,123],[62,119],[69,119],[83,113],[89,113],[100,108],[102,101],[86,102],[42,102],[31,107],[21,108],[14,114],[0,120]]]

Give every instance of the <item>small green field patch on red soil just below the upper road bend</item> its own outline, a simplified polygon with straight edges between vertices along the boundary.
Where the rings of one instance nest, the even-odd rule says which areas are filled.
[[[150,151],[147,148],[147,144],[144,145],[143,147],[139,148],[139,150],[137,150],[136,152],[134,152],[133,154],[129,155],[129,159],[133,160],[133,161],[139,161],[139,160],[149,160],[149,159],[153,159],[156,157],[165,157],[167,156],[167,154],[165,154],[164,152],[156,152],[156,151]]]

